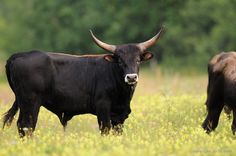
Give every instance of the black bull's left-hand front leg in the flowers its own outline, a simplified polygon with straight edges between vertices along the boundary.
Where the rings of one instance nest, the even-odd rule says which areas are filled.
[[[98,107],[97,120],[101,135],[108,135],[111,129],[110,108],[107,106]]]

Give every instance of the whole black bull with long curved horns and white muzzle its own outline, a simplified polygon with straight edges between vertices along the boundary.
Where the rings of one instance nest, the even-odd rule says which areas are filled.
[[[152,58],[146,49],[159,39],[162,30],[148,41],[117,46],[98,40],[91,32],[94,42],[112,54],[31,51],[12,55],[6,74],[15,102],[4,116],[4,125],[11,124],[19,109],[18,132],[21,137],[31,135],[44,106],[64,127],[74,115],[91,113],[97,116],[101,134],[108,134],[111,127],[121,133],[131,113],[139,64]]]

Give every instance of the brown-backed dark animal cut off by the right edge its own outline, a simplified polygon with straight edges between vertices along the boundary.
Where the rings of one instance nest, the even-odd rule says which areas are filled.
[[[232,132],[236,132],[236,52],[222,52],[208,63],[207,117],[202,124],[207,133],[213,131],[220,113],[233,111]]]

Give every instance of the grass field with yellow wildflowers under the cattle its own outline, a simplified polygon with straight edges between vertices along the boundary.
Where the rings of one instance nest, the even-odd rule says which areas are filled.
[[[41,108],[33,138],[19,139],[16,120],[0,130],[0,155],[235,155],[236,137],[224,113],[214,133],[201,128],[206,85],[206,75],[142,71],[122,136],[100,136],[92,115],[74,117],[64,132],[57,117]],[[13,95],[6,83],[0,87],[3,114]]]

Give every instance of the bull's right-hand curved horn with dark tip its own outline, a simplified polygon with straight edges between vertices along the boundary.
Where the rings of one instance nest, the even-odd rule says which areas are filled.
[[[164,31],[164,27],[162,26],[160,31],[153,38],[151,38],[145,42],[139,43],[138,47],[141,49],[141,51],[145,51],[147,48],[154,45],[158,41],[158,39],[160,38],[163,31]]]

